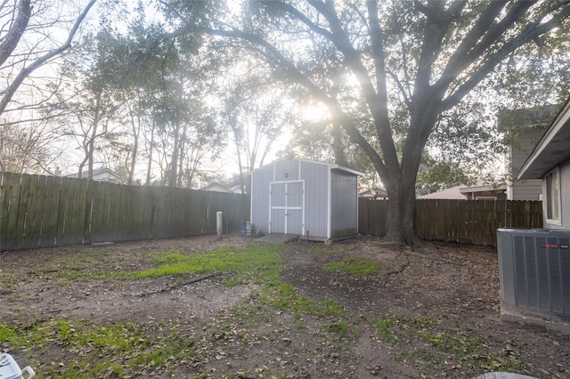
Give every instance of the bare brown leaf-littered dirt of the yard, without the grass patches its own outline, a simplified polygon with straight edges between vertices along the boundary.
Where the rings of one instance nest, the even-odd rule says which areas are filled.
[[[249,243],[257,242],[231,235],[222,241],[205,236],[104,248],[113,256],[115,266],[109,270],[143,270],[153,265],[151,252],[191,254]],[[247,321],[235,319],[235,307],[255,307],[259,286],[224,286],[219,276],[76,278],[65,285],[55,278],[58,267],[53,262],[77,253],[86,262],[96,249],[66,246],[0,253],[0,283],[4,283],[0,321],[9,325],[50,319],[121,321],[156,334],[176,328],[178,334],[196,341],[191,359],[171,362],[168,370],[137,371],[129,377],[468,378],[506,371],[508,363],[515,362],[519,374],[570,378],[570,335],[501,320],[493,248],[426,244],[411,250],[367,237],[333,246],[288,244],[281,279],[306,298],[341,304],[354,329],[340,337],[327,329],[338,320],[295,319],[287,311],[275,312],[251,329]],[[379,260],[386,269],[365,276],[323,270],[325,263],[346,257]],[[83,270],[85,262],[77,262],[77,270]],[[381,335],[371,327],[379,319],[399,328],[399,333]],[[217,335],[220,323],[231,325],[233,332]],[[417,333],[412,333],[413,328]],[[441,351],[446,341],[449,353]],[[456,354],[451,350],[456,347],[450,341],[464,343],[465,351],[472,349],[470,342],[478,342],[478,349],[468,352],[470,363],[453,360]],[[3,347],[10,350],[0,341],[0,351]],[[20,362],[29,358],[26,351],[10,352]],[[41,371],[43,365],[65,364],[76,356],[77,352],[53,343],[34,359]]]

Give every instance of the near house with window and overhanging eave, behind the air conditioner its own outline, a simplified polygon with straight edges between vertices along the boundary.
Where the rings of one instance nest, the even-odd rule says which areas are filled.
[[[570,99],[517,174],[540,179],[544,228],[570,230]]]

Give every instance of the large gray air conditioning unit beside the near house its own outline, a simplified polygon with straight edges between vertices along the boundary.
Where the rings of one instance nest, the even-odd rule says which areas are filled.
[[[570,230],[497,230],[501,312],[570,321]]]

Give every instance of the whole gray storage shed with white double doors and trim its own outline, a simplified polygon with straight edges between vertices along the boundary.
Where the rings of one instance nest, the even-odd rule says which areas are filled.
[[[251,173],[251,223],[317,241],[358,234],[358,176],[324,162],[282,158]]]

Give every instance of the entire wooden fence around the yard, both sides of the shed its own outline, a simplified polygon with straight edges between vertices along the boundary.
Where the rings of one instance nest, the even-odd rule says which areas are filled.
[[[359,231],[383,237],[388,201],[359,199]],[[216,234],[249,220],[249,197],[0,173],[0,250]],[[498,228],[542,228],[539,201],[418,200],[419,238],[495,246]]]

